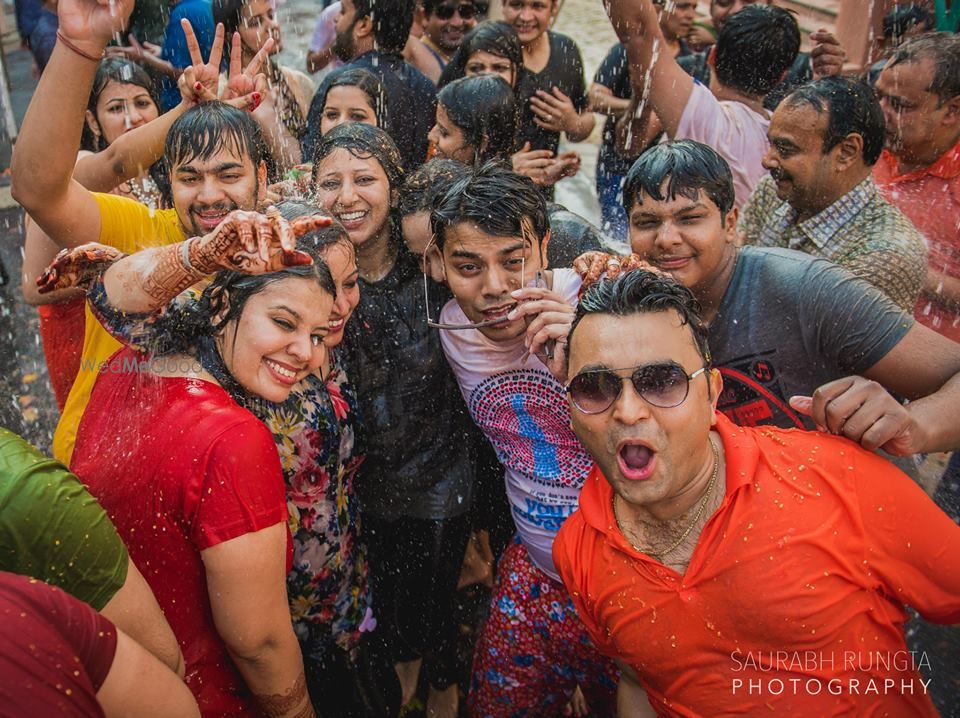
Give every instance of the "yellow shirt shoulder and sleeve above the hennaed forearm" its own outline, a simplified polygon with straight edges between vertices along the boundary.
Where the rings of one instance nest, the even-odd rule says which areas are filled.
[[[185,239],[173,209],[151,211],[129,197],[94,192],[100,208],[101,244],[133,254],[148,247],[159,247]]]

